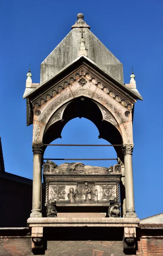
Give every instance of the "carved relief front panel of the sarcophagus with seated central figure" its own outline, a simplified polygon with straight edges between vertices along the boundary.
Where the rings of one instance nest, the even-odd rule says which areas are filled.
[[[53,199],[57,204],[109,204],[110,198],[117,198],[119,201],[119,183],[50,182],[47,193],[48,201]]]

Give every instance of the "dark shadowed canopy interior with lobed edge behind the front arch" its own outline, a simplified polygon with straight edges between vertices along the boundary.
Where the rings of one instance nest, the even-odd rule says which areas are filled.
[[[101,107],[104,108],[103,106]],[[60,138],[62,129],[67,124],[67,122],[76,117],[84,117],[92,121],[99,131],[99,138],[107,140],[110,144],[113,145],[122,144],[122,137],[118,131],[118,128],[109,122],[110,120],[104,119],[99,105],[97,105],[96,102],[92,99],[89,99],[85,96],[75,98],[70,101],[69,104],[66,105],[64,111],[62,113],[61,112],[62,111],[58,113],[62,114],[62,118],[58,118],[58,120],[56,119],[56,122],[53,122],[51,125],[47,124],[47,129],[45,129],[42,141],[44,144],[50,144],[53,140]],[[58,117],[60,117],[60,114]],[[51,120],[49,122],[51,122]],[[121,146],[114,146],[114,148],[117,153],[117,157],[123,159]]]

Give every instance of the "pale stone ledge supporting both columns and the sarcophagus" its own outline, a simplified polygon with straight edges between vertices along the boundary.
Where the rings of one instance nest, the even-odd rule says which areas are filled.
[[[29,227],[138,227],[139,218],[28,218]]]

